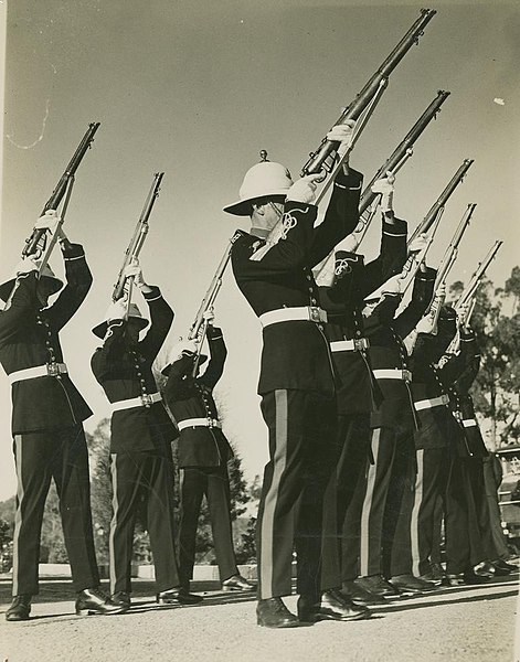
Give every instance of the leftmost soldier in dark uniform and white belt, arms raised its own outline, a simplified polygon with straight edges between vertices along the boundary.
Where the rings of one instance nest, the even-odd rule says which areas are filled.
[[[36,227],[55,232],[50,211]],[[92,533],[88,453],[83,420],[92,415],[63,362],[59,333],[85,299],[92,275],[83,247],[62,237],[66,285],[51,269],[25,258],[0,286],[0,362],[12,384],[12,435],[17,467],[13,533],[13,600],[9,621],[26,620],[39,592],[38,564],[43,510],[51,480],[60,499],[65,546],[77,592],[76,613],[118,613],[99,590]],[[13,291],[14,289],[14,291]]]

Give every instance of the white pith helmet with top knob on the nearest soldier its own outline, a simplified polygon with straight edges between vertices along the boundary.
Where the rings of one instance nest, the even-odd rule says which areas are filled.
[[[250,216],[251,204],[258,197],[270,197],[274,195],[286,196],[293,185],[290,172],[282,163],[267,161],[267,152],[261,152],[264,159],[250,168],[244,175],[240,188],[240,200],[224,207],[224,212],[235,216]]]

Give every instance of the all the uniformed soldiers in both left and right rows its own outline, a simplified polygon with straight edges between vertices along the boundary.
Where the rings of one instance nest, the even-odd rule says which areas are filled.
[[[352,130],[349,121],[327,136],[338,143],[340,158]],[[484,508],[486,450],[468,393],[478,370],[474,333],[443,306],[444,288],[434,291],[436,271],[425,264],[410,303],[400,308],[403,266],[408,254],[421,254],[427,238],[421,235],[407,246],[389,174],[374,184],[383,218],[380,255],[364,264],[352,234],[362,175],[344,162],[325,218],[316,224],[318,179],[312,174],[293,182],[286,168],[264,161],[246,173],[240,200],[225,207],[251,217],[251,232],[234,236],[231,259],[237,286],[263,327],[258,393],[269,461],[256,532],[257,622],[269,628],[367,618],[370,605],[388,597],[438,587],[439,504],[448,584],[479,580],[474,567],[482,562],[494,562],[488,574],[511,570],[497,559]],[[56,213],[47,211],[36,228],[53,234],[59,224]],[[132,535],[142,496],[158,604],[202,599],[190,592],[190,579],[204,494],[223,588],[253,589],[233,552],[226,470],[232,450],[212,396],[226,357],[222,331],[206,310],[205,370],[200,371],[208,357],[197,340],[180,342],[161,366],[166,384],[159,392],[152,363],[173,312],[132,260],[124,278],[140,290],[150,322],[127,290],[93,329],[102,345],[92,370],[113,410],[110,596],[99,590],[83,431],[92,412],[70,378],[59,339],[92,276],[83,247],[60,236],[64,288],[49,265],[30,256],[0,286],[7,301],[0,312],[0,362],[12,384],[18,476],[13,601],[7,619],[28,619],[38,594],[51,479],[60,498],[77,613],[130,608]],[[455,337],[458,350],[446,353]],[[178,436],[177,536],[171,441]],[[291,592],[295,547],[297,615],[282,600]]]

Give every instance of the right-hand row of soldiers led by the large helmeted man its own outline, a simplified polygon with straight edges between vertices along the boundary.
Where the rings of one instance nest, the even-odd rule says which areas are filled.
[[[353,122],[327,140],[349,152]],[[394,178],[375,181],[379,256],[355,252],[362,175],[343,163],[321,223],[317,182],[278,163],[245,175],[225,211],[251,217],[233,271],[263,327],[258,393],[269,435],[257,521],[257,622],[290,628],[370,616],[400,595],[487,580],[499,558],[484,489],[486,447],[469,388],[479,354],[466,310],[418,258],[393,211]],[[444,514],[446,572],[439,565]],[[290,594],[297,552],[297,613]],[[477,570],[475,570],[477,568]]]

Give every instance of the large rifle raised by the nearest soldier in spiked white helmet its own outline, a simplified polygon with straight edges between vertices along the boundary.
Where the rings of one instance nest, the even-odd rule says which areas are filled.
[[[423,34],[425,26],[433,17],[436,14],[436,11],[433,9],[422,9],[421,15],[414,22],[412,28],[406,32],[403,39],[399,42],[399,44],[394,47],[394,50],[390,53],[390,55],[384,60],[378,71],[373,74],[373,76],[369,79],[365,86],[361,89],[361,92],[357,95],[354,100],[347,106],[343,113],[340,115],[339,119],[335,122],[333,126],[339,124],[344,124],[348,119],[357,120],[361,114],[368,109],[370,105],[375,107],[383,89],[386,87],[390,74],[395,70],[397,64],[404,57],[404,55],[410,51],[413,44],[417,44],[420,36]],[[363,122],[364,126],[365,122]],[[354,140],[359,137],[360,131],[358,130],[352,139],[352,145],[349,148],[349,152],[353,147]],[[304,166],[301,170],[301,177],[307,174],[314,174],[318,172],[323,172],[323,179],[332,171],[336,161],[336,152],[339,147],[339,142],[335,140],[327,140],[323,138],[321,140],[320,146],[314,152],[310,152],[309,160]],[[348,154],[346,154],[344,159]],[[344,160],[343,159],[343,160]]]

